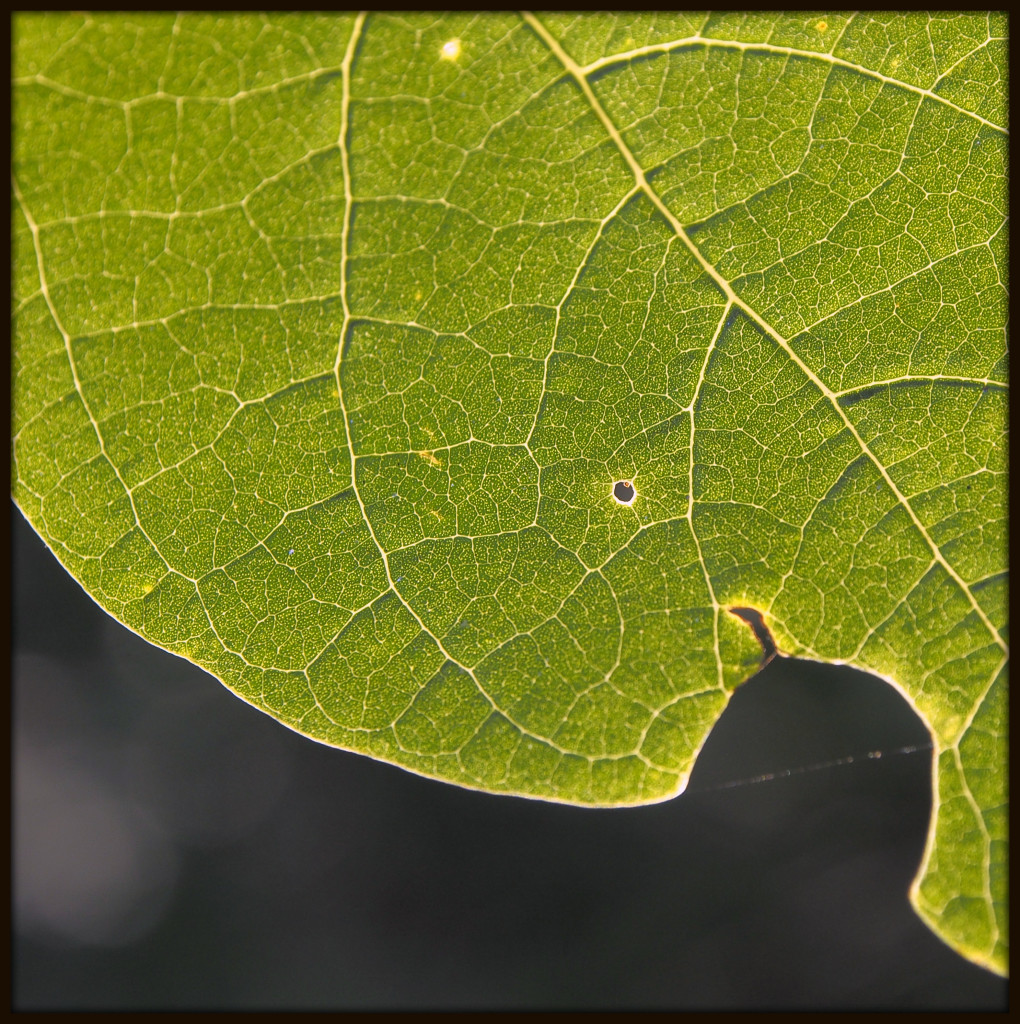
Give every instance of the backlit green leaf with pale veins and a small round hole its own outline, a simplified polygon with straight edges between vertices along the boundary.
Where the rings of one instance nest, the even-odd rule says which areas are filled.
[[[911,898],[1005,972],[1005,15],[14,35],[13,487],[102,607],[598,805],[683,788],[757,609],[928,724]]]

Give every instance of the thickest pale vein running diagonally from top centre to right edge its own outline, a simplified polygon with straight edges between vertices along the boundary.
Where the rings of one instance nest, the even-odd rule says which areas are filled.
[[[837,415],[843,422],[843,425],[850,431],[854,439],[860,446],[861,452],[867,456],[867,458],[875,464],[882,478],[886,481],[889,488],[892,490],[893,495],[896,497],[896,501],[903,507],[907,515],[910,517],[910,521],[917,527],[918,531],[924,538],[925,543],[931,549],[932,555],[935,560],[942,566],[942,568],[949,574],[949,577],[955,582],[957,586],[960,587],[961,591],[967,597],[970,602],[971,607],[976,612],[977,616],[984,624],[985,629],[991,634],[994,642],[1003,649],[1005,652],[1007,650],[1006,641],[1002,638],[998,630],[992,625],[988,615],[985,613],[984,609],[978,603],[977,599],[974,597],[970,587],[967,582],[960,575],[960,573],[949,564],[945,556],[942,554],[938,545],[932,540],[931,535],[928,532],[924,523],[918,517],[918,514],[913,511],[910,503],[907,501],[905,495],[896,486],[895,481],[889,475],[889,471],[886,469],[882,460],[880,460],[875,453],[868,447],[866,441],[861,437],[857,428],[853,425],[850,418],[847,416],[843,407],[840,404],[836,393],[828,388],[825,383],[814,373],[813,370],[797,354],[790,342],[781,335],[779,332],[772,327],[756,309],[750,306],[739,295],[733,291],[733,287],[717,269],[716,267],[706,259],[702,251],[694,245],[690,237],[684,230],[683,225],[677,220],[673,211],[663,202],[658,194],[648,184],[648,179],[645,176],[644,169],[638,163],[637,158],[631,153],[630,146],[624,141],[623,136],[620,134],[619,129],[615,124],[610,120],[608,114],[606,114],[602,104],[599,102],[598,97],[592,90],[591,84],[589,83],[587,77],[585,76],[584,69],[559,45],[559,42],[554,36],[551,35],[548,29],[529,11],[522,11],[521,16],[523,19],[532,27],[535,33],[540,39],[549,47],[555,57],[563,66],[568,75],[577,82],[581,91],[584,93],[585,98],[588,100],[592,111],[595,113],[596,117],[601,121],[602,126],[605,128],[606,133],[615,143],[617,148],[620,151],[621,156],[627,162],[627,165],[631,169],[631,173],[634,175],[634,179],[637,181],[641,190],[648,197],[651,203],[654,205],[655,209],[666,218],[667,222],[676,232],[677,237],[683,242],[687,247],[690,254],[697,260],[698,264],[705,270],[705,272],[719,286],[720,289],[726,295],[726,298],[739,309],[741,309],[748,316],[751,317],[770,338],[772,338],[780,348],[790,356],[791,359],[801,369],[804,375],[811,381],[815,387],[828,399],[833,408],[836,410]]]

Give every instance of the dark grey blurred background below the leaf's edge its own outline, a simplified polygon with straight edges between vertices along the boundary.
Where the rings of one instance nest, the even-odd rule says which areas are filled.
[[[879,679],[774,660],[665,804],[484,796],[289,731],[11,517],[17,1010],[1005,1009],[907,903],[928,734]]]

